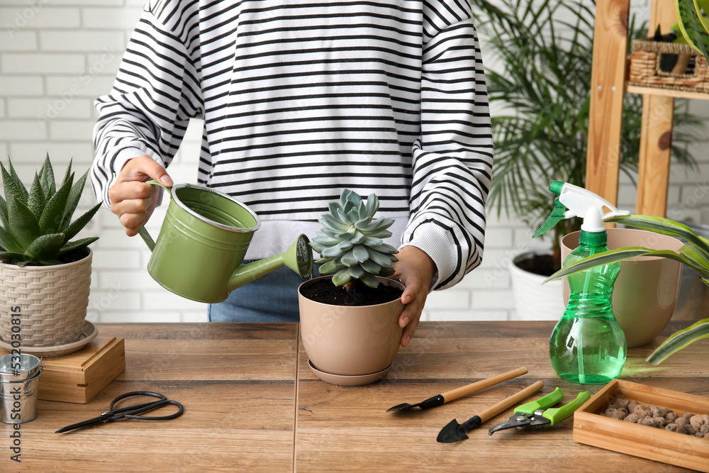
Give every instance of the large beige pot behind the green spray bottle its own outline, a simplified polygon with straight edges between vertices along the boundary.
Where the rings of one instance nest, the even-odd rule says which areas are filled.
[[[608,249],[641,246],[679,250],[677,238],[633,228],[608,228]],[[562,259],[579,246],[580,232],[562,238]],[[620,262],[613,286],[613,314],[625,333],[628,348],[652,342],[672,318],[679,299],[682,264],[668,258],[643,256]],[[569,284],[564,279],[564,300]]]

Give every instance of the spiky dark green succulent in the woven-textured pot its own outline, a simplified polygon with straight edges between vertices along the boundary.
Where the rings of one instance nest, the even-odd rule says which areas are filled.
[[[69,162],[59,189],[49,155],[28,191],[19,179],[12,162],[9,172],[0,162],[4,199],[0,197],[0,259],[13,265],[48,266],[61,264],[62,257],[86,247],[98,237],[74,240],[79,230],[89,223],[101,204],[71,221],[82,196],[86,171],[74,183]]]

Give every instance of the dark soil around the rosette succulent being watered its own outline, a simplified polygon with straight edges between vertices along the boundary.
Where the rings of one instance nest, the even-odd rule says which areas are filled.
[[[303,296],[321,304],[332,304],[333,306],[373,306],[384,304],[385,302],[398,299],[403,291],[398,287],[384,286],[373,289],[366,286],[362,281],[354,284],[352,291],[347,291],[343,286],[335,286],[330,279],[320,279],[320,281],[308,284],[301,289]]]

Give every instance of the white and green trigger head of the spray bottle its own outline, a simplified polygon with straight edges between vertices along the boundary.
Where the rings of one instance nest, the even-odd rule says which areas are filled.
[[[542,228],[537,230],[535,234],[532,235],[532,238],[542,235],[542,233],[547,232],[547,230],[554,228],[554,226],[559,223],[559,221],[564,220],[564,218],[574,216],[584,218],[584,224],[581,226],[581,230],[601,232],[605,231],[603,221],[606,218],[628,215],[630,213],[627,210],[618,210],[616,206],[610,204],[610,202],[603,199],[603,197],[593,194],[593,192],[583,187],[569,184],[568,182],[552,181],[552,183],[549,184],[549,191],[558,196],[554,199],[554,209],[552,210],[552,214],[549,215],[549,218],[547,218],[547,221],[542,225]],[[609,208],[610,212],[603,213],[604,207]]]

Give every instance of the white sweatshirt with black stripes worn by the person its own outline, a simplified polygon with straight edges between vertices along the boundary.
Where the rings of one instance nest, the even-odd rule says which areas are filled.
[[[169,172],[203,118],[196,181],[259,216],[247,258],[313,237],[351,189],[432,257],[432,289],[481,262],[493,145],[467,0],[150,0],[96,108],[106,205],[127,160]]]

